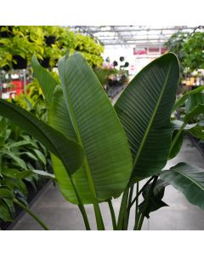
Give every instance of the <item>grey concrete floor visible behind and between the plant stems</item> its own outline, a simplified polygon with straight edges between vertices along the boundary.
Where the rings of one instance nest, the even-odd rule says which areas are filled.
[[[184,139],[183,147],[178,156],[170,160],[167,168],[185,161],[196,166],[204,167],[204,160],[199,151],[192,145],[188,138]],[[163,198],[170,207],[163,207],[150,213],[150,219],[144,220],[143,230],[204,230],[204,212],[190,205],[180,192],[167,186]],[[113,201],[117,212],[120,199]],[[107,203],[100,204],[106,230],[111,230],[111,215]],[[31,210],[48,225],[50,230],[85,230],[82,216],[78,208],[65,201],[59,189],[48,183],[42,195],[31,206]],[[91,227],[95,230],[94,211],[92,206],[86,206]],[[129,229],[133,229],[133,215],[130,216]],[[41,226],[27,213],[13,225],[11,230],[42,230]]]

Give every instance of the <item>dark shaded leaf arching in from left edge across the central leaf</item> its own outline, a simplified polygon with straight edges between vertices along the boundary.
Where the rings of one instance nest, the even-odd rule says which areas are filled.
[[[0,100],[0,115],[10,119],[31,136],[35,137],[50,152],[62,160],[66,171],[72,175],[82,166],[84,152],[82,147],[61,132],[37,119],[32,113],[12,103]]]

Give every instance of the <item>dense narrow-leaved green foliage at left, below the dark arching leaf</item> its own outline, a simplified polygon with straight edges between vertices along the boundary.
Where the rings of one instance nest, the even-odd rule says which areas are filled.
[[[25,207],[27,184],[30,183],[33,189],[36,189],[41,177],[35,170],[45,171],[48,165],[47,158],[46,148],[8,119],[0,117],[0,188],[8,189],[8,193],[14,195],[14,200],[20,201]],[[1,191],[0,220],[13,221],[13,201],[2,197]]]

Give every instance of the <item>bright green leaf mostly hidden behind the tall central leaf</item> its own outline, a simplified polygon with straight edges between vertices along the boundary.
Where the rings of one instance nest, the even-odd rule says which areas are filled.
[[[50,104],[49,108],[49,125],[53,126],[54,129],[65,134],[65,136],[77,139],[73,126],[71,125],[71,119],[69,117],[68,110],[65,105],[65,99],[61,87],[58,85],[54,91],[53,102]],[[77,197],[75,191],[72,187],[71,180],[65,171],[65,167],[62,162],[51,154],[52,166],[54,168],[54,175],[59,183],[59,189],[65,196],[66,200],[77,204]],[[84,167],[82,166],[73,175],[76,181],[77,191],[82,198],[83,203],[92,203],[91,192],[88,186],[88,178]]]

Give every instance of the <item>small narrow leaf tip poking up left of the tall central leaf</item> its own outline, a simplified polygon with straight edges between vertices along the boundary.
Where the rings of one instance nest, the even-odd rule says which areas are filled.
[[[33,68],[34,77],[37,78],[41,86],[46,101],[50,103],[54,94],[55,85],[58,82],[48,73],[48,70],[40,65],[35,55],[32,56],[31,67]]]

